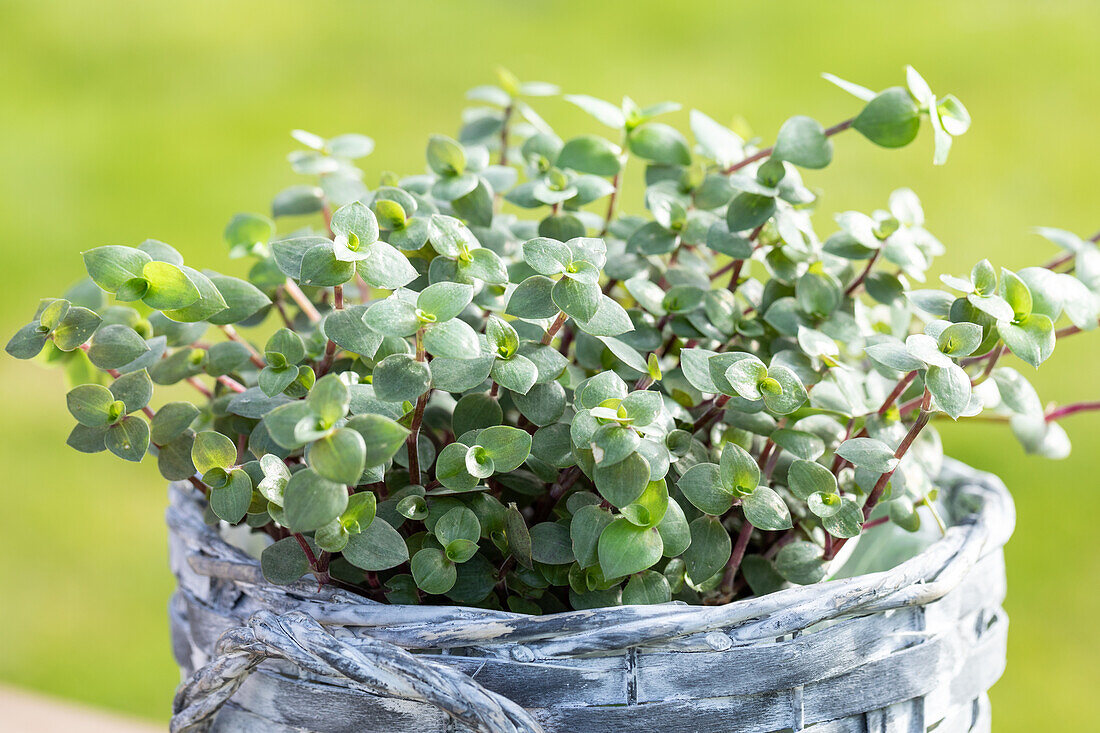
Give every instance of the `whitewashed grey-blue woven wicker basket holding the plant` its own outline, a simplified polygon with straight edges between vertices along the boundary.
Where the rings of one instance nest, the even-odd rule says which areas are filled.
[[[948,461],[959,518],[897,568],[724,606],[548,616],[374,603],[255,560],[172,489],[173,731],[988,731],[1004,668],[1003,484]]]

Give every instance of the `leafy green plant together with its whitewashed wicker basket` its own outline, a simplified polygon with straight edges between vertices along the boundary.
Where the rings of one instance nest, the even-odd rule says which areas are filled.
[[[617,142],[563,140],[502,72],[420,175],[296,131],[311,182],[226,229],[246,277],[85,252],[7,350],[64,366],[72,447],[174,482],[173,730],[988,727],[1012,504],[934,426],[1068,452],[1097,404],[1002,360],[1097,325],[1100,250],[1041,230],[1062,256],[936,287],[906,189],[820,239],[833,135],[927,118],[941,164],[969,124],[912,68],[827,78],[851,119],[762,146],[693,110],[692,145],[586,96]]]

